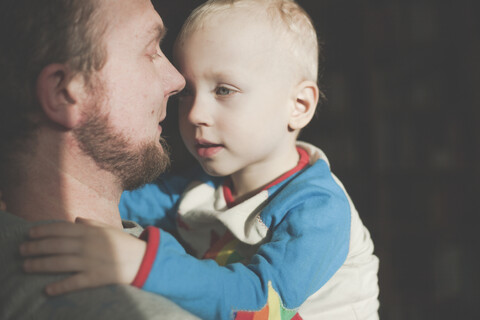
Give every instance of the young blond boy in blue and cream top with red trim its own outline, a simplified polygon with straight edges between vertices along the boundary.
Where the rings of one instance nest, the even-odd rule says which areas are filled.
[[[377,319],[369,233],[323,152],[296,141],[321,94],[318,50],[294,1],[211,0],[196,9],[175,57],[187,82],[180,131],[203,171],[124,193],[123,218],[155,226],[143,233],[146,253],[130,264],[133,273],[113,263],[100,280],[85,263],[65,267],[83,282],[67,279],[48,292],[132,282],[203,319]],[[139,241],[107,229],[96,230],[117,243]],[[100,251],[103,238],[85,232],[97,247],[50,253],[92,259],[84,252]],[[99,255],[128,260],[128,250]]]

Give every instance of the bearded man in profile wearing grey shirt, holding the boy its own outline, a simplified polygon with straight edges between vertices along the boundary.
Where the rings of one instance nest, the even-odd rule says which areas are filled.
[[[0,319],[193,318],[130,286],[47,298],[62,276],[25,275],[18,256],[44,220],[122,228],[122,191],[167,166],[159,123],[184,80],[164,33],[150,0],[2,0]]]

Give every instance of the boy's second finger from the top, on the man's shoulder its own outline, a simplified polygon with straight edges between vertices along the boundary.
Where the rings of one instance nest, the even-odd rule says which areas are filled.
[[[45,254],[73,254],[81,252],[81,242],[77,238],[47,238],[27,241],[20,245],[24,257]]]

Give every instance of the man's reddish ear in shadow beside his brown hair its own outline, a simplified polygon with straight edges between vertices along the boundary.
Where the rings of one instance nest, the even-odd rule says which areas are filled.
[[[37,98],[46,116],[67,129],[80,121],[79,99],[83,97],[83,77],[71,77],[67,66],[50,64],[37,78]]]

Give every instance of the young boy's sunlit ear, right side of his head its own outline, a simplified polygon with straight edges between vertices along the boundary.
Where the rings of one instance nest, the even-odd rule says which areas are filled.
[[[302,129],[315,114],[318,103],[319,89],[313,81],[302,81],[295,88],[295,101],[288,128],[290,130]]]

